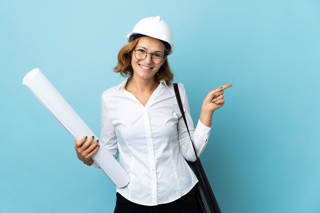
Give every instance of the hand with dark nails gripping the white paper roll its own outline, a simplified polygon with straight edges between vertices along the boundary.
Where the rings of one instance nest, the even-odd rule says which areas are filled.
[[[94,143],[92,143],[94,139],[95,136],[89,138],[87,136],[83,136],[78,141],[75,140],[77,157],[86,165],[92,165],[94,163],[92,156],[98,152],[100,147],[98,144],[99,140],[96,140]]]

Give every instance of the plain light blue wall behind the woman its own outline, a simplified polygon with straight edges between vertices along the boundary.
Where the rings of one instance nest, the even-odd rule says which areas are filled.
[[[39,67],[99,134],[100,95],[136,22],[161,16],[198,120],[226,83],[201,160],[223,213],[320,212],[320,2],[0,0],[0,212],[113,212],[115,186],[22,85]]]

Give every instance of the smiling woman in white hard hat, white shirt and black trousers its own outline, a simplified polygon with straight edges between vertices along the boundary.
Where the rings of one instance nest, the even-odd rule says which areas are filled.
[[[140,20],[119,52],[115,72],[129,77],[101,96],[101,144],[130,176],[117,188],[115,212],[197,212],[193,187],[197,178],[186,160],[196,159],[175,98],[167,56],[173,52],[171,31],[160,17]],[[223,106],[224,85],[204,98],[194,129],[188,98],[179,84],[192,140],[200,155],[207,145],[213,112]],[[99,141],[84,136],[75,141],[78,158],[91,158]]]

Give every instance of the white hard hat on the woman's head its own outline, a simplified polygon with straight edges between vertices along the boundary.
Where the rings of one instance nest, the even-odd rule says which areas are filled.
[[[141,19],[136,23],[132,32],[127,35],[127,40],[131,42],[141,36],[149,36],[164,41],[166,48],[171,53],[173,52],[174,46],[170,27],[160,16]]]

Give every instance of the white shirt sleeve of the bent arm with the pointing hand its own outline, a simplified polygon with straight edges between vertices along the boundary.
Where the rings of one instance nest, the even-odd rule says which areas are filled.
[[[196,149],[197,155],[200,156],[207,146],[207,142],[210,135],[211,127],[207,127],[203,125],[200,120],[198,120],[198,124],[196,128],[194,128],[193,121],[190,114],[190,106],[188,97],[184,88],[184,85],[178,84],[179,92],[181,96],[182,105],[184,106],[184,112],[186,115],[187,124],[189,127],[189,132],[192,138],[193,145]],[[192,142],[190,140],[190,136],[188,134],[188,129],[184,122],[183,117],[179,117],[178,119],[178,138],[179,138],[179,147],[180,152],[185,157],[186,160],[195,161],[196,156],[192,147]]]

